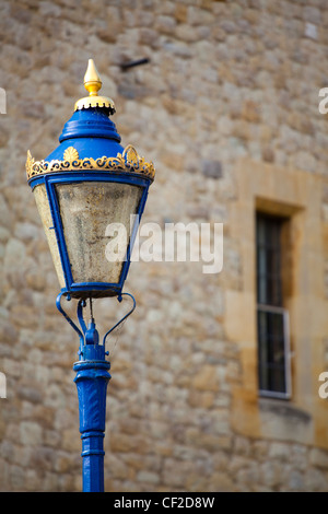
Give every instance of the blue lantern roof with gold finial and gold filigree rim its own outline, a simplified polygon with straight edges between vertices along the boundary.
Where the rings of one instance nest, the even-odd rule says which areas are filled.
[[[108,171],[140,174],[151,182],[155,170],[152,163],[138,155],[132,145],[124,148],[112,116],[113,100],[98,95],[102,81],[93,59],[89,59],[84,75],[89,96],[75,102],[71,118],[65,124],[59,145],[43,161],[27,152],[27,179],[47,173],[71,171]]]

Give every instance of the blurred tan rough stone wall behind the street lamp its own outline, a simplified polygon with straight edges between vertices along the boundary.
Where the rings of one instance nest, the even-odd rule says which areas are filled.
[[[81,490],[79,341],[55,307],[57,277],[24,166],[28,149],[44,159],[57,147],[92,57],[124,144],[156,166],[143,220],[224,223],[219,274],[202,273],[200,262],[131,266],[126,290],[138,308],[109,342],[106,490],[327,491],[327,400],[317,397],[318,362],[328,370],[327,291],[303,299],[305,313],[323,313],[321,328],[314,323],[307,341],[311,385],[303,398],[296,369],[291,400],[309,412],[314,435],[295,439],[274,423],[269,436],[253,431],[260,408],[244,343],[254,353],[256,341],[243,327],[249,334],[254,320],[237,307],[249,305],[244,248],[254,241],[236,231],[250,220],[241,160],[270,167],[261,189],[269,197],[276,167],[280,177],[315,176],[314,268],[327,284],[328,118],[318,113],[318,91],[328,86],[327,2],[3,0],[0,14],[0,490]],[[121,68],[141,58],[150,62]],[[102,328],[118,311],[114,300],[95,302]],[[306,367],[306,352],[302,359]]]

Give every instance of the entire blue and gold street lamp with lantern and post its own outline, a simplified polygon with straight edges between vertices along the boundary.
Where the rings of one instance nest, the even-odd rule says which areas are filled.
[[[80,98],[65,125],[60,144],[44,161],[27,152],[26,174],[49,244],[61,291],[56,305],[79,334],[74,363],[82,439],[83,491],[104,491],[106,390],[110,378],[105,355],[107,336],[136,307],[124,293],[133,241],[154,166],[131,145],[122,148],[109,116],[114,102],[99,96],[102,81],[92,59],[84,75],[89,96]],[[122,229],[122,230],[121,230]],[[133,305],[99,342],[93,299],[124,295]],[[78,300],[80,327],[61,305]],[[90,323],[83,309],[90,304]]]

